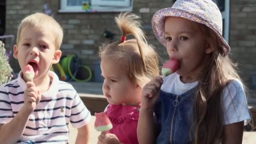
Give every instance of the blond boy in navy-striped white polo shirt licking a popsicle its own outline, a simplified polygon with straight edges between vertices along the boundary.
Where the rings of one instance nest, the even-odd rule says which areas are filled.
[[[69,122],[78,129],[76,144],[88,144],[90,112],[72,85],[49,71],[61,57],[62,37],[51,16],[35,13],[21,21],[13,47],[21,72],[0,87],[0,144],[67,144]],[[32,81],[24,75],[27,64]]]

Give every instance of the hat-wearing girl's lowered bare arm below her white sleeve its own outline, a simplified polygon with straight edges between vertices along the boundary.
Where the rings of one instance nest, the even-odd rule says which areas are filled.
[[[224,125],[222,144],[242,144],[243,123],[244,121]]]

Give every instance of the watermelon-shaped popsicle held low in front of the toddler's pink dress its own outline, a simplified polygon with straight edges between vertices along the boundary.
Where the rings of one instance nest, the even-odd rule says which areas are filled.
[[[96,131],[109,131],[113,127],[109,117],[105,112],[94,113],[96,120],[94,123],[94,128]]]

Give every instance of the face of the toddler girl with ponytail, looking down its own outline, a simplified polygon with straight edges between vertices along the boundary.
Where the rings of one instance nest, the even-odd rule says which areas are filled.
[[[141,88],[116,61],[101,58],[101,76],[104,78],[102,91],[110,104],[137,106],[141,102]]]

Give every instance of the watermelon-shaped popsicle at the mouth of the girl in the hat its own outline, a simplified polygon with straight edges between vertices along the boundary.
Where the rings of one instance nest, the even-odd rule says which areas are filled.
[[[168,75],[171,75],[173,72],[176,72],[177,69],[179,69],[179,61],[176,61],[176,60],[166,61],[162,67],[162,75],[163,77],[166,77]]]

